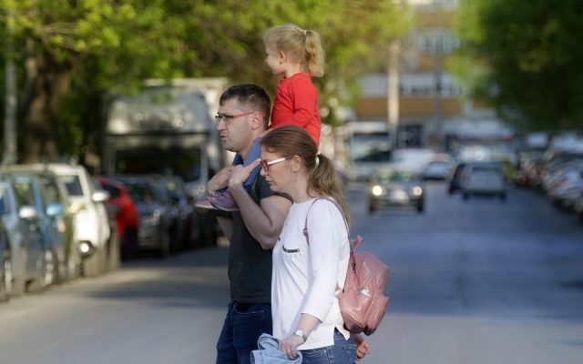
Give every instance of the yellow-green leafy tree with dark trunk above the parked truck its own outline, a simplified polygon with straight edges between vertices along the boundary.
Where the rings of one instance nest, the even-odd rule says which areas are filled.
[[[404,31],[406,9],[390,0],[0,0],[15,14],[23,85],[22,161],[79,155],[97,145],[104,90],[136,90],[145,78],[228,76],[273,89],[261,36],[272,25],[317,30],[327,74],[323,105],[351,102],[356,76]],[[0,35],[3,35],[0,30]],[[3,47],[4,50],[4,47]],[[333,113],[328,118],[334,121]]]

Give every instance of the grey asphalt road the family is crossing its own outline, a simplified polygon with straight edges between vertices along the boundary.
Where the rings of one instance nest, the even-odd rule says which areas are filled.
[[[370,216],[353,232],[391,266],[392,302],[365,363],[580,363],[583,224],[532,192],[498,199],[427,186],[424,214]],[[0,306],[0,363],[212,363],[229,299],[226,248],[124,262]]]

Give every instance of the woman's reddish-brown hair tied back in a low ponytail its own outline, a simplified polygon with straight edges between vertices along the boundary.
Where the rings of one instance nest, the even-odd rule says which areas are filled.
[[[343,195],[343,187],[336,168],[328,157],[318,154],[312,136],[300,126],[280,126],[261,138],[261,147],[281,156],[298,156],[309,173],[309,195],[333,197],[342,208],[343,216],[350,225],[350,211]],[[313,197],[316,197],[313,196]]]

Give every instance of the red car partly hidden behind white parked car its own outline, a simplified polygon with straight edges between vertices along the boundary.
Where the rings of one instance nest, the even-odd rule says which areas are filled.
[[[122,258],[132,258],[138,252],[138,210],[120,182],[97,177],[97,182],[109,193],[107,207],[115,215]]]

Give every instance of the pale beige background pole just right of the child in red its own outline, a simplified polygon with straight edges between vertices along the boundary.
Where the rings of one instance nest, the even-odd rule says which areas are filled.
[[[399,147],[399,53],[401,43],[398,39],[389,46],[387,107],[389,132],[392,136],[391,147]]]

